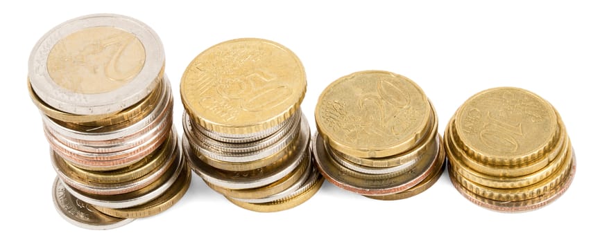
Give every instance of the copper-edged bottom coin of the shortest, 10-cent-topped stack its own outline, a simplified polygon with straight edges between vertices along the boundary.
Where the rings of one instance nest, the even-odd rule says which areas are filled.
[[[451,169],[450,163],[448,163],[447,165],[448,165],[448,168]],[[507,202],[506,201],[495,201],[495,200],[484,198],[482,196],[474,194],[473,192],[469,191],[468,189],[465,189],[465,187],[463,187],[460,183],[458,183],[458,181],[456,181],[456,179],[454,179],[454,177],[452,176],[452,174],[450,172],[449,172],[449,175],[450,175],[450,181],[451,181],[452,185],[456,188],[456,190],[462,196],[467,198],[470,202],[474,203],[475,205],[484,207],[488,210],[492,210],[495,212],[515,213],[515,212],[529,212],[532,210],[538,210],[541,207],[544,207],[544,206],[548,205],[549,203],[556,201],[556,199],[560,198],[560,196],[562,196],[563,194],[565,194],[565,192],[567,192],[567,189],[573,183],[575,173],[576,173],[575,152],[572,153],[572,164],[571,164],[571,167],[569,170],[570,170],[569,175],[567,176],[567,178],[565,178],[565,180],[563,180],[562,183],[560,183],[560,185],[549,190],[547,193],[543,194],[542,196],[538,196],[538,197],[531,198],[529,200],[524,200],[524,201],[507,201]]]

